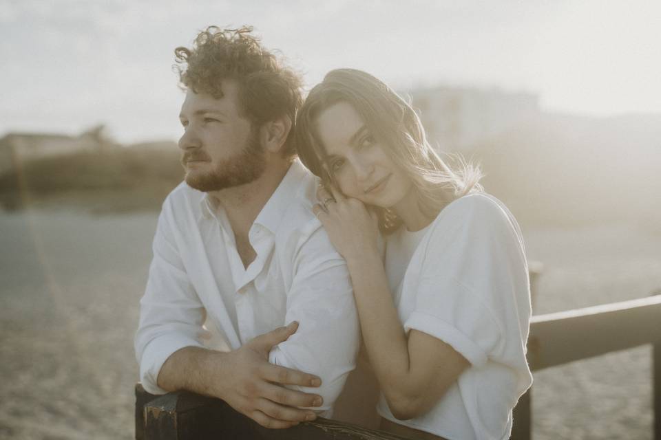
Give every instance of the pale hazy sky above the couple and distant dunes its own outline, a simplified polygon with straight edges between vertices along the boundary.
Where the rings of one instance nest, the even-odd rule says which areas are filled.
[[[661,113],[661,1],[0,0],[0,135],[176,139],[173,50],[207,25],[254,25],[314,85],[336,67],[397,89],[537,94],[544,109]]]

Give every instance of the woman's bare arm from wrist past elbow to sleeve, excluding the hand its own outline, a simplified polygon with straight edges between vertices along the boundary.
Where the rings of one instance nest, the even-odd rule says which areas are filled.
[[[397,419],[427,412],[470,366],[450,345],[403,331],[379,255],[348,256],[366,349],[390,411]]]

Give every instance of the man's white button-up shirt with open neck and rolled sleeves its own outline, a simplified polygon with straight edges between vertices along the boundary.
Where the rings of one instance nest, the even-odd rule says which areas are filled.
[[[247,268],[222,206],[185,183],[165,199],[135,338],[149,393],[165,393],[158,372],[183,347],[237,349],[297,320],[269,361],[321,377],[300,389],[331,408],[355,366],[359,327],[346,263],[311,210],[315,191],[295,160],[249,231],[257,256]]]

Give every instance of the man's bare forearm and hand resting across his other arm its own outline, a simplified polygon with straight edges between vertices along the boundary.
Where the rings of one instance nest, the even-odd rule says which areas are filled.
[[[186,389],[219,397],[232,408],[266,428],[290,428],[314,420],[313,410],[322,397],[284,388],[284,385],[319,386],[319,377],[269,363],[269,351],[286,341],[297,322],[251,340],[229,353],[187,347],[171,355],[158,375],[167,391]]]

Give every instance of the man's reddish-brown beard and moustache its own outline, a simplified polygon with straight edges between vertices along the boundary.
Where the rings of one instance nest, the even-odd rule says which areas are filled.
[[[207,155],[202,153],[198,157],[204,159]],[[195,151],[185,153],[181,159],[182,164],[185,166],[189,159],[196,159]],[[260,144],[259,130],[251,129],[249,138],[240,153],[224,159],[216,166],[215,170],[208,173],[187,173],[186,183],[191,188],[204,192],[219,191],[233,186],[249,184],[264,173],[265,167],[264,148]]]

